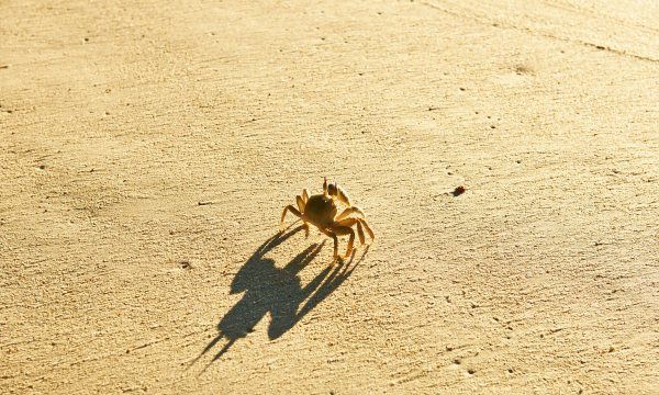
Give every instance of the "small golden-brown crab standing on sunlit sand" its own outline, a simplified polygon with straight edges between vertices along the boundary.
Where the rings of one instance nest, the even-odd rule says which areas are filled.
[[[295,201],[298,203],[298,208],[292,204],[289,204],[283,208],[281,222],[279,224],[280,232],[283,232],[283,219],[288,212],[291,212],[302,219],[302,226],[304,227],[306,235],[309,235],[309,224],[317,227],[323,234],[334,239],[334,260],[332,263],[336,262],[339,258],[346,259],[350,257],[355,242],[355,230],[353,229],[353,226],[357,225],[357,235],[359,236],[359,242],[361,245],[366,244],[364,229],[368,233],[371,241],[376,238],[373,232],[366,223],[366,214],[364,211],[350,204],[348,194],[336,182],[327,184],[327,178],[324,178],[322,194],[310,196],[309,191],[303,189],[302,194],[295,196]],[[340,205],[346,207],[340,214],[336,215]],[[348,247],[345,256],[339,257],[337,236],[343,235],[349,235],[350,238],[348,239]]]

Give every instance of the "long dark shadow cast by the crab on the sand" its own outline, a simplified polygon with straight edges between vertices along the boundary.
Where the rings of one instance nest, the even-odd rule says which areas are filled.
[[[270,340],[279,338],[346,281],[368,251],[367,247],[355,263],[355,253],[353,253],[345,263],[339,261],[334,267],[327,266],[312,281],[302,285],[298,273],[313,261],[325,241],[310,246],[283,268],[278,268],[273,259],[265,258],[268,251],[301,229],[302,226],[299,226],[289,233],[270,237],[243,264],[234,276],[230,291],[230,294],[244,293],[243,298],[220,319],[216,327],[217,335],[192,363],[225,339],[222,349],[215,352],[209,363],[212,364],[226,353],[236,340],[253,332],[254,327],[268,313],[271,317],[268,338]]]

